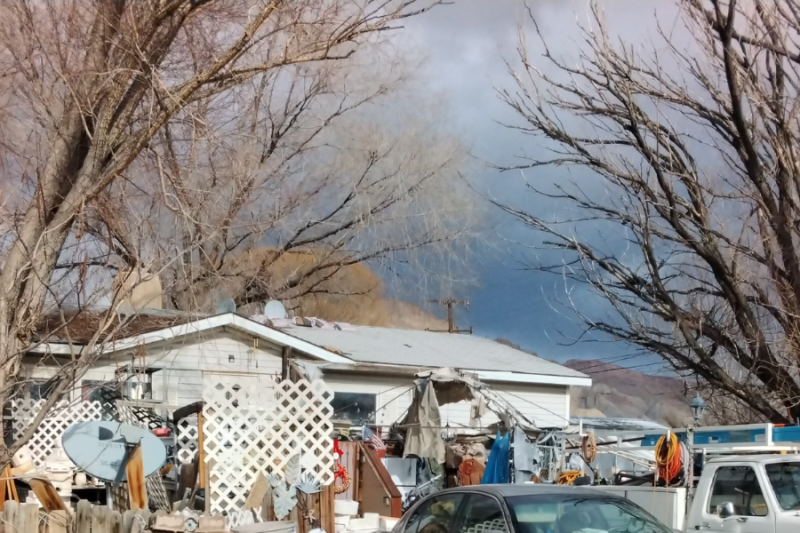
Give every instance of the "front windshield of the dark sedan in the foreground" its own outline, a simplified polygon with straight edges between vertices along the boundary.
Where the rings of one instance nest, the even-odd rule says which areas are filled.
[[[672,533],[621,498],[554,494],[513,496],[506,501],[517,533]]]

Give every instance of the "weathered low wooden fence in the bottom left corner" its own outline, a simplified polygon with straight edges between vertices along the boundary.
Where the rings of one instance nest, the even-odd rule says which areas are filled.
[[[120,514],[105,505],[81,500],[74,513],[45,513],[35,503],[7,501],[0,518],[2,533],[142,533],[147,529],[150,511]]]

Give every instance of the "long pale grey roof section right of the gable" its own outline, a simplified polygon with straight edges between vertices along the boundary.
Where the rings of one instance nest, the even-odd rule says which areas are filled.
[[[591,384],[577,370],[477,335],[362,326],[344,330],[291,326],[282,331],[360,363],[456,367],[478,371],[486,381]]]

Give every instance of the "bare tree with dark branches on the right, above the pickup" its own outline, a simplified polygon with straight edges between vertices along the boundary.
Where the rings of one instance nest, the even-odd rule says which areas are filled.
[[[578,61],[545,42],[534,60],[521,38],[501,96],[546,155],[513,168],[574,216],[495,203],[558,252],[539,268],[613,309],[575,306],[590,331],[660,355],[728,413],[800,420],[800,2],[675,4],[683,25],[650,47],[617,42],[597,8]],[[566,166],[591,178],[543,184]]]

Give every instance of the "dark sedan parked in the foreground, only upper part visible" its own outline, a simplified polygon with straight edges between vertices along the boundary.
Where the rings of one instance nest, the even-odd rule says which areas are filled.
[[[673,533],[612,494],[558,485],[479,485],[418,501],[392,533]]]

